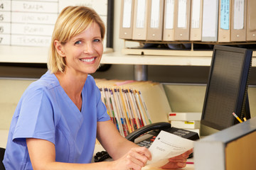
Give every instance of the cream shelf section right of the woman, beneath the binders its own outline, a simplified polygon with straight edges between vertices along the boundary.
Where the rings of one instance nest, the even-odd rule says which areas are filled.
[[[188,54],[191,56],[188,56]],[[102,64],[170,65],[170,66],[210,66],[212,54],[213,54],[212,51],[173,51],[173,54],[170,54],[169,56],[164,56],[164,55],[157,56],[157,55],[124,55],[122,54],[122,52],[111,52],[103,55],[101,63]],[[255,52],[253,52],[252,67],[256,67]]]

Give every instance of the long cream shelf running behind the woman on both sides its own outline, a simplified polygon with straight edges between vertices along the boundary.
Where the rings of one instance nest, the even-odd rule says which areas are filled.
[[[102,64],[138,64],[170,66],[210,66],[212,51],[168,50],[158,55],[159,50],[144,51],[144,55],[125,55],[122,52],[106,50]],[[145,55],[146,54],[146,55]],[[162,54],[162,53],[161,53]],[[252,53],[252,67],[256,67],[256,53]],[[46,63],[47,47],[0,46],[0,62]]]

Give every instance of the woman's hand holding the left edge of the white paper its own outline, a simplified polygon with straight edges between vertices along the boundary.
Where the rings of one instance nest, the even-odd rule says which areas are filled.
[[[146,147],[133,147],[123,157],[113,162],[113,169],[140,170],[151,160],[151,153]]]

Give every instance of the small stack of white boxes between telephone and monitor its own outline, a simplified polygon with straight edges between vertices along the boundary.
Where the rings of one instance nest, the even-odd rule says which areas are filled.
[[[197,132],[200,135],[202,113],[169,113],[171,126]]]

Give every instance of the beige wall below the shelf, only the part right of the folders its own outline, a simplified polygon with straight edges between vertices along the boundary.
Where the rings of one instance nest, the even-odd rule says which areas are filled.
[[[206,85],[198,84],[166,84],[164,86],[171,110],[174,112],[202,112]],[[248,88],[250,114],[256,116],[256,86]],[[201,125],[201,135],[217,132]]]

